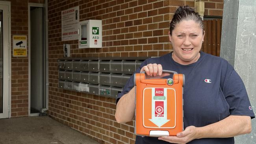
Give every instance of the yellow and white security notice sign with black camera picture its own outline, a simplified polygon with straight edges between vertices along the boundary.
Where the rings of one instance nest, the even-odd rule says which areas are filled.
[[[13,35],[13,57],[27,56],[27,36]]]

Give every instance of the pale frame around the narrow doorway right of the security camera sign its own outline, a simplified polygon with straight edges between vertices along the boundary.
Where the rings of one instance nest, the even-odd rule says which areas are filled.
[[[47,35],[47,31],[48,31],[48,27],[47,27],[47,15],[48,12],[46,11],[46,5],[45,4],[39,4],[39,3],[28,3],[28,116],[39,116],[39,113],[30,113],[30,107],[31,107],[31,51],[30,51],[30,39],[31,39],[31,35],[30,35],[30,7],[43,7],[44,10],[44,26],[43,26],[43,33],[44,33],[44,37],[43,37],[43,43],[44,43],[44,47],[43,47],[43,52],[45,54],[44,56],[44,78],[43,81],[43,91],[44,91],[44,105],[43,105],[43,109],[42,109],[42,113],[44,111],[48,110],[48,35]]]

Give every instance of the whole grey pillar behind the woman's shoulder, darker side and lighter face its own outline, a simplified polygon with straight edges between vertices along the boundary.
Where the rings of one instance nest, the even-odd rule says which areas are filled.
[[[256,0],[224,0],[220,56],[243,79],[252,109],[256,112]],[[256,119],[252,132],[235,137],[236,144],[256,144]]]

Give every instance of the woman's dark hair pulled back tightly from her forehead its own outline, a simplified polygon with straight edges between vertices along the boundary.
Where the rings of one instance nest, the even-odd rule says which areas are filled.
[[[195,9],[189,6],[180,6],[178,9],[175,11],[175,14],[173,16],[173,19],[170,23],[170,35],[172,35],[172,32],[175,28],[175,26],[181,22],[182,20],[194,20],[196,23],[199,24],[199,26],[203,30],[204,34],[204,24],[202,22],[202,19],[199,15],[199,13],[195,12]]]

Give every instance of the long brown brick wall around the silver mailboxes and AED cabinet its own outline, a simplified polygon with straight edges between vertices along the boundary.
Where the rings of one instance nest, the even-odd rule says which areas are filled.
[[[215,1],[217,4],[218,0]],[[169,22],[181,5],[194,6],[194,0],[49,1],[50,117],[102,144],[134,144],[134,121],[126,124],[115,121],[115,99],[58,89],[58,58],[63,58],[64,43],[70,44],[71,57],[142,57],[169,53]],[[78,49],[77,40],[61,41],[61,11],[74,6],[80,8],[80,21],[102,20],[102,48]]]

